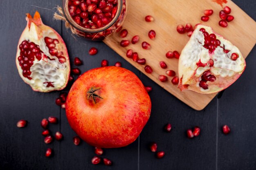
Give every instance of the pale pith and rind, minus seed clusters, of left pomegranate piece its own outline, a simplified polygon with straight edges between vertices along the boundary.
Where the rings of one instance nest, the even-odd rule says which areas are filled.
[[[33,20],[32,18],[30,21],[29,18],[26,19],[28,24],[22,32],[16,54],[16,65],[20,77],[25,83],[29,84],[34,91],[49,92],[65,88],[70,74],[70,62],[63,39],[54,29],[44,25],[41,19],[36,21],[37,24],[38,22],[40,23],[38,25],[31,21]],[[58,57],[49,53],[49,49],[45,43],[45,37],[57,39],[59,41],[59,43],[56,44],[55,49],[57,49],[58,52],[63,52],[62,56],[65,57],[65,62],[59,62]],[[22,75],[23,70],[18,61],[18,57],[20,56],[19,46],[24,40],[34,42],[43,52],[41,60],[34,57],[33,65],[30,67],[31,79]]]

